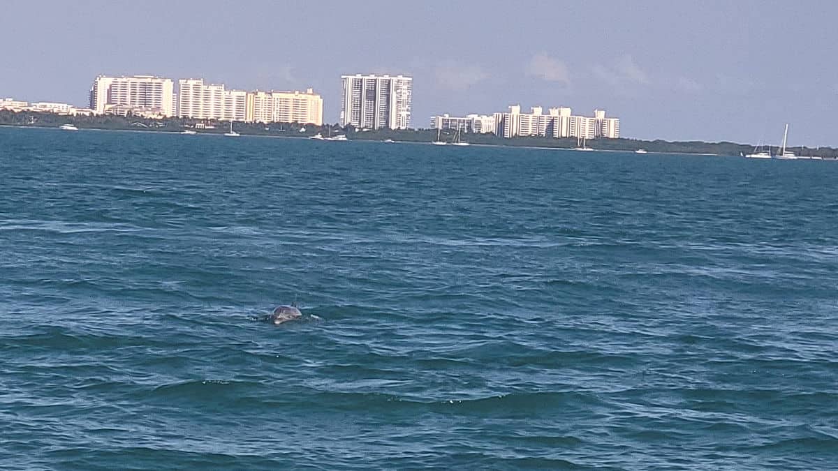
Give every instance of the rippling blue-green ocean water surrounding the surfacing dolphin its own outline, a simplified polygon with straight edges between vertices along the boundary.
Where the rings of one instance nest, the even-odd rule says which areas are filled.
[[[838,468],[836,184],[0,128],[0,467]]]

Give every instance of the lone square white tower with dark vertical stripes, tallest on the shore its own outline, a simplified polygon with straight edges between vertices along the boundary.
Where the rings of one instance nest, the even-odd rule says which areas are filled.
[[[341,75],[340,125],[407,129],[411,124],[413,78],[404,75]]]

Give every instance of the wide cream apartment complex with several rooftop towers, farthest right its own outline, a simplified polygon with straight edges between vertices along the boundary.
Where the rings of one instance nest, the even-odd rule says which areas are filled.
[[[494,113],[495,134],[503,137],[620,137],[620,120],[605,117],[605,111],[594,110],[594,116],[573,116],[566,107],[550,108],[543,113],[541,106],[533,106],[530,113],[520,112],[520,105],[510,111]]]

